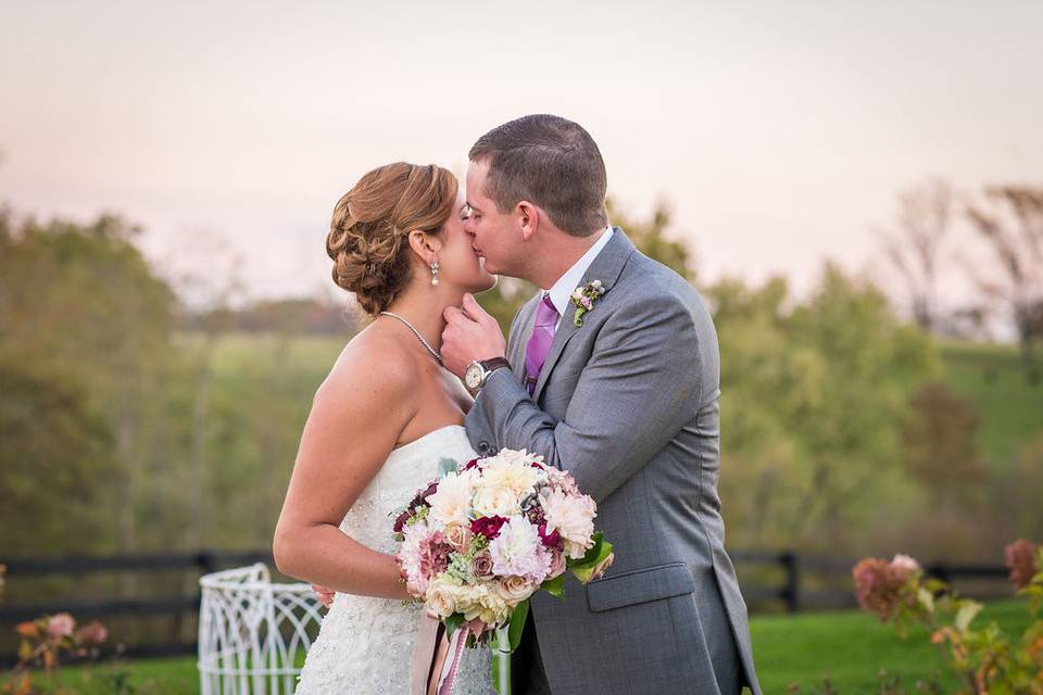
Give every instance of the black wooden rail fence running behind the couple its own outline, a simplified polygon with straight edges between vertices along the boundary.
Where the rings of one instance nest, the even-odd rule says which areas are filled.
[[[855,560],[834,557],[801,555],[786,551],[731,552],[737,566],[743,596],[751,612],[797,612],[802,610],[822,610],[851,608],[856,605],[851,568]],[[0,603],[0,664],[13,661],[13,628],[21,621],[32,620],[42,615],[67,611],[78,620],[113,617],[148,619],[151,617],[172,618],[179,626],[183,635],[194,630],[194,620],[199,612],[199,582],[202,574],[229,567],[264,563],[273,566],[269,552],[217,552],[169,554],[134,554],[108,557],[66,556],[39,558],[0,558],[7,566],[9,586],[21,585],[20,596],[13,601]],[[976,597],[995,597],[1010,595],[1005,580],[1007,569],[995,565],[953,565],[934,563],[928,565],[927,573],[954,583],[962,589],[962,582],[976,583]],[[147,597],[78,597],[75,590],[62,593],[48,601],[23,601],[21,595],[32,595],[26,587],[45,577],[68,578],[75,582],[91,574],[115,574],[124,572],[152,574],[160,572],[188,573],[193,587],[191,593],[171,592]],[[52,592],[53,593],[53,592]],[[965,592],[966,593],[966,592]],[[12,596],[9,595],[9,598]],[[183,624],[185,618],[191,624]],[[181,629],[185,628],[185,629]],[[120,635],[114,635],[118,637]],[[192,654],[196,650],[193,639],[138,640],[127,645],[122,653],[127,657],[172,656]]]

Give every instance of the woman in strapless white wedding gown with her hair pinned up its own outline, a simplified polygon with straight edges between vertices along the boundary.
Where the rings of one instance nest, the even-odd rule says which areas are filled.
[[[393,511],[475,454],[470,397],[441,367],[447,306],[495,285],[464,231],[456,178],[395,163],[363,176],[334,208],[334,280],[373,323],[318,388],[273,549],[279,571],[336,592],[297,692],[410,692],[420,608],[393,558]],[[454,693],[490,693],[488,649],[467,649]]]

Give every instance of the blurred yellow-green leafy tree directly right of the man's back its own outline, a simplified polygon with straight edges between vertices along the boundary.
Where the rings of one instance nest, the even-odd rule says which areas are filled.
[[[721,494],[732,542],[834,547],[908,494],[899,424],[937,369],[930,338],[827,265],[804,302],[781,279],[706,289],[721,353]],[[897,500],[895,500],[897,503]]]

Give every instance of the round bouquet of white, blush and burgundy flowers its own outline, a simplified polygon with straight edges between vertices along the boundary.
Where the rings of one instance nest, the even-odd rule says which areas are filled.
[[[529,596],[560,596],[566,571],[587,583],[611,565],[595,516],[570,475],[504,448],[450,470],[395,518],[402,579],[450,634],[467,626],[474,645],[510,626],[514,649]]]

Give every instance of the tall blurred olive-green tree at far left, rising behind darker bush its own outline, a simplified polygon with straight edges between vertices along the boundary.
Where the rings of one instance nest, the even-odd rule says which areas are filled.
[[[0,352],[30,371],[60,366],[104,419],[122,549],[138,545],[139,513],[167,492],[151,473],[168,460],[162,415],[177,361],[175,298],[134,245],[137,232],[111,215],[88,225],[0,217]]]

